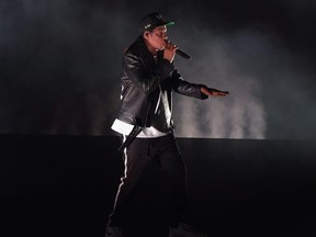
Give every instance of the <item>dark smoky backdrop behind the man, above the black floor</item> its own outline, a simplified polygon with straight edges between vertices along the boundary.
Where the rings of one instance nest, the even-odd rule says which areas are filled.
[[[314,139],[315,10],[294,0],[3,0],[0,133],[112,135],[122,53],[140,18],[159,11],[193,58],[176,58],[183,78],[230,91],[174,95],[177,136]]]

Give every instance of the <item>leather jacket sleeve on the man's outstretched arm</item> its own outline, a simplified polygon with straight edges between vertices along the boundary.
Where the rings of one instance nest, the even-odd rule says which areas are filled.
[[[206,87],[204,84],[196,84],[191,83],[181,77],[181,75],[178,72],[178,70],[174,70],[170,78],[170,83],[172,86],[172,89],[180,94],[187,95],[187,97],[193,97],[201,100],[207,99],[208,97],[201,92],[202,87]]]

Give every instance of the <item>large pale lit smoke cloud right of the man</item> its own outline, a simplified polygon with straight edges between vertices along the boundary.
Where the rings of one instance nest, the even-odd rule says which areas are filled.
[[[181,47],[193,57],[192,61],[177,59],[183,78],[230,94],[206,101],[176,95],[177,136],[315,138],[315,129],[311,131],[316,119],[315,110],[311,111],[315,97],[306,97],[304,84],[313,81],[314,71],[297,64],[297,55],[284,47],[278,35],[255,29],[214,33],[187,22],[185,29],[195,44],[189,43],[188,35],[177,31],[173,35],[180,42],[184,38]]]

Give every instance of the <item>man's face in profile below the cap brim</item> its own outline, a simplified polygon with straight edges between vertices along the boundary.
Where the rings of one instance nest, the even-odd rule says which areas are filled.
[[[166,40],[168,40],[166,25],[157,26],[153,32],[145,33],[145,38],[151,47],[162,50],[167,45]]]

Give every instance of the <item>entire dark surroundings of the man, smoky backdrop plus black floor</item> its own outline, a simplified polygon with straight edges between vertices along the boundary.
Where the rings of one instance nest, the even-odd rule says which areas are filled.
[[[102,236],[122,169],[110,128],[122,53],[151,11],[176,21],[169,36],[193,58],[176,58],[183,78],[230,91],[174,94],[190,222],[211,236],[315,236],[315,10],[302,0],[0,1],[1,236]],[[140,182],[140,216],[166,211],[156,168]]]

